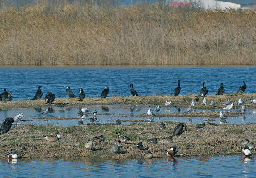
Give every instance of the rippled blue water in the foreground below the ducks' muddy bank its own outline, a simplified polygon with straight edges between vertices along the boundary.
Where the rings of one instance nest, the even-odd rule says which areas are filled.
[[[18,159],[0,160],[1,178],[255,178],[254,157],[242,155],[218,157],[176,157],[168,159]]]

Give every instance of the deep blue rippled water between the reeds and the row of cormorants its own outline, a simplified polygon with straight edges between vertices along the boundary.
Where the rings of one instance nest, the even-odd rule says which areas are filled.
[[[14,100],[33,98],[39,85],[43,97],[51,91],[57,98],[67,98],[70,86],[79,96],[83,88],[86,97],[99,97],[103,86],[109,86],[109,97],[131,96],[130,83],[141,96],[171,94],[180,80],[180,94],[199,94],[206,82],[209,94],[215,94],[224,83],[225,94],[237,92],[244,80],[245,93],[256,93],[256,67],[156,67],[156,68],[0,68],[0,91],[6,88]]]

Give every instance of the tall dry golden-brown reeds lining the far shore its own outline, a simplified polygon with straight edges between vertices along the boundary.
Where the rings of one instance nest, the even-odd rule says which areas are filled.
[[[0,65],[255,65],[253,9],[39,2],[0,9]]]

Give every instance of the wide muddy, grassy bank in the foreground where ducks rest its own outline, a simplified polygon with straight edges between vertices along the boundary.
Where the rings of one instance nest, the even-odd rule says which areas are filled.
[[[171,145],[179,147],[179,154],[188,155],[225,155],[239,154],[240,140],[248,138],[256,142],[256,124],[209,125],[197,129],[194,124],[187,124],[188,132],[176,136],[173,141],[161,139],[170,136],[177,122],[164,122],[166,129],[156,123],[132,123],[126,126],[88,125],[72,127],[22,126],[13,127],[8,134],[0,135],[0,157],[6,157],[8,151],[15,150],[20,157],[27,158],[60,158],[60,157],[100,157],[100,158],[141,158],[147,151],[154,157],[166,157],[164,150]],[[59,131],[63,138],[56,142],[46,141],[43,136]],[[128,143],[121,147],[121,154],[109,151],[109,143],[117,141],[117,132],[130,137]],[[105,142],[94,141],[92,150],[86,150],[84,143],[88,138],[103,135]],[[147,139],[158,138],[157,144],[148,144]],[[144,148],[139,150],[136,144],[141,141]]]

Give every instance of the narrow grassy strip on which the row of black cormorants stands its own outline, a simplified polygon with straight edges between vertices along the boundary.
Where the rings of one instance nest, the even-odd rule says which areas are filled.
[[[170,107],[180,107],[180,108],[189,108],[191,101],[195,99],[196,95],[179,95],[179,96],[168,96],[168,95],[159,95],[159,96],[131,96],[131,97],[122,97],[114,96],[111,98],[85,98],[83,101],[78,101],[78,98],[56,98],[52,105],[45,104],[44,100],[23,100],[23,101],[8,101],[7,103],[0,102],[0,109],[2,108],[28,108],[28,107],[37,107],[37,106],[59,106],[62,103],[66,105],[109,105],[109,104],[130,104],[135,105],[139,104],[140,106],[147,105],[148,107],[153,107],[153,105],[164,106],[165,102],[171,101]],[[237,103],[239,98],[242,98],[246,104],[246,108],[256,108],[256,104],[250,103],[251,97],[255,98],[255,94],[225,94],[225,95],[207,95],[208,104],[204,105],[202,103],[203,97],[199,97],[199,101],[196,101],[196,106],[191,106],[191,108],[196,109],[222,109],[225,107],[223,105],[228,99],[231,103]],[[186,102],[183,103],[183,98],[186,99]],[[210,106],[210,102],[213,100],[216,104]],[[140,107],[139,106],[139,107]],[[237,108],[234,107],[233,108]],[[239,107],[241,108],[241,107]],[[191,113],[193,114],[193,113]]]

